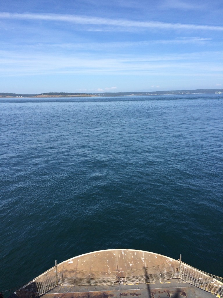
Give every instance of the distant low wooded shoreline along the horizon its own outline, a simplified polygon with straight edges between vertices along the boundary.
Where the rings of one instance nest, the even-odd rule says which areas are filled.
[[[0,93],[0,98],[52,98],[52,97],[114,97],[114,96],[150,96],[150,95],[179,95],[179,94],[211,94],[223,89],[194,89],[147,92],[103,92],[103,93],[73,93],[48,92],[40,94]]]

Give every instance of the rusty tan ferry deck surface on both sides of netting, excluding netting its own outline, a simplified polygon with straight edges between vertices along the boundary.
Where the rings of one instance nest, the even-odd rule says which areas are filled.
[[[44,295],[44,298],[109,298],[109,297],[218,297],[180,279],[169,279],[147,283],[125,283],[125,272],[163,265],[174,266],[176,260],[160,254],[131,249],[111,249],[83,254],[60,263],[59,270],[84,270],[88,272],[116,272],[120,283],[106,286],[73,285],[57,286]],[[123,279],[122,279],[123,277]],[[220,298],[220,296],[219,296]],[[221,297],[222,298],[222,297]]]

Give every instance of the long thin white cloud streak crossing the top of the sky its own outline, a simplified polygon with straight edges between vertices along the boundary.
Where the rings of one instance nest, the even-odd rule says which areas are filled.
[[[95,18],[80,15],[62,15],[62,14],[37,14],[37,13],[0,13],[0,18],[17,20],[44,20],[44,21],[63,21],[83,25],[109,25],[117,27],[137,27],[148,29],[164,30],[215,30],[223,31],[221,26],[195,25],[195,24],[172,24],[154,21],[129,21],[124,19]]]

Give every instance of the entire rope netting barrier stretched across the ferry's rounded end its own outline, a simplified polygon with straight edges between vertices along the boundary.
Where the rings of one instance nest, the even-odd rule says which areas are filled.
[[[35,278],[19,289],[4,291],[4,297],[11,298],[37,298],[47,293],[57,285],[75,286],[75,285],[102,285],[109,286],[115,283],[137,284],[150,283],[172,278],[181,280],[194,285],[202,290],[212,294],[223,296],[223,278],[197,270],[186,263],[173,261],[142,269],[123,271],[123,278],[118,277],[117,272],[104,271],[84,271],[52,268]]]

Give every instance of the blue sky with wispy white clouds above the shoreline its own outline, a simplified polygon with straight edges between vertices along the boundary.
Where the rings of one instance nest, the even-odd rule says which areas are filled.
[[[222,0],[0,0],[0,92],[222,88]]]

